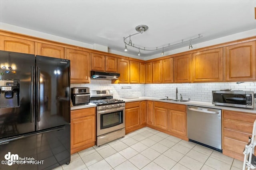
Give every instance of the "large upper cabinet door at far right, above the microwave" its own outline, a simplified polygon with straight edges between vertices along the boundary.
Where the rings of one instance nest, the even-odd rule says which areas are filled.
[[[226,81],[256,80],[256,41],[226,48]]]

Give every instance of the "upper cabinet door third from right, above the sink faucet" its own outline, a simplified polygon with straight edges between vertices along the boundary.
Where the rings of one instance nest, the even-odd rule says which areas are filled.
[[[174,82],[191,82],[191,55],[182,55],[174,58]]]

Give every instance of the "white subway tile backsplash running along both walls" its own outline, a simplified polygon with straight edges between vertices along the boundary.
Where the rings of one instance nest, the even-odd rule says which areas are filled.
[[[113,90],[114,98],[150,96],[175,99],[178,88],[184,100],[212,102],[212,90],[232,89],[256,92],[256,82],[172,83],[172,84],[111,84],[111,80],[91,80],[90,84],[71,84],[71,87],[89,87],[91,90]],[[122,89],[122,87],[124,89]],[[128,88],[129,87],[129,88]],[[131,88],[130,88],[131,87]],[[127,88],[127,89],[125,89]]]

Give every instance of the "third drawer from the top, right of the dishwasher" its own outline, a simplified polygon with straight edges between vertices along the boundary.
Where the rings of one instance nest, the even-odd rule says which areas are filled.
[[[252,137],[252,134],[223,128],[223,136],[230,137],[232,139],[236,139],[236,140],[243,141],[243,142],[248,142],[248,139],[249,139],[248,137],[249,136]]]

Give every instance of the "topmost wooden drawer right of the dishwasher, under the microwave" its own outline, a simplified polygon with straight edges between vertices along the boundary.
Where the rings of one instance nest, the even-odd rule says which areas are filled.
[[[242,121],[246,123],[254,123],[256,119],[256,114],[250,114],[245,112],[238,112],[238,111],[223,111],[223,118],[224,119],[232,119],[236,121]]]

